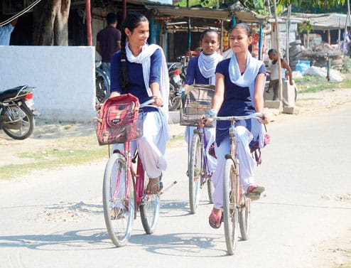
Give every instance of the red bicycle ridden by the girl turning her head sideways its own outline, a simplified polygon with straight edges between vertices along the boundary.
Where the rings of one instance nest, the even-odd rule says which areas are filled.
[[[147,107],[148,100],[141,107]],[[154,107],[154,106],[153,106]],[[130,118],[135,118],[130,114]],[[144,113],[139,110],[138,129],[142,132]],[[126,124],[132,124],[126,122]],[[142,136],[139,135],[140,137]],[[134,165],[135,164],[135,165]],[[134,166],[136,166],[136,171]],[[156,230],[160,210],[161,192],[146,194],[148,176],[141,164],[137,150],[131,156],[131,141],[124,141],[123,149],[113,151],[104,171],[103,208],[109,237],[117,247],[123,247],[131,236],[137,210],[147,234]]]

